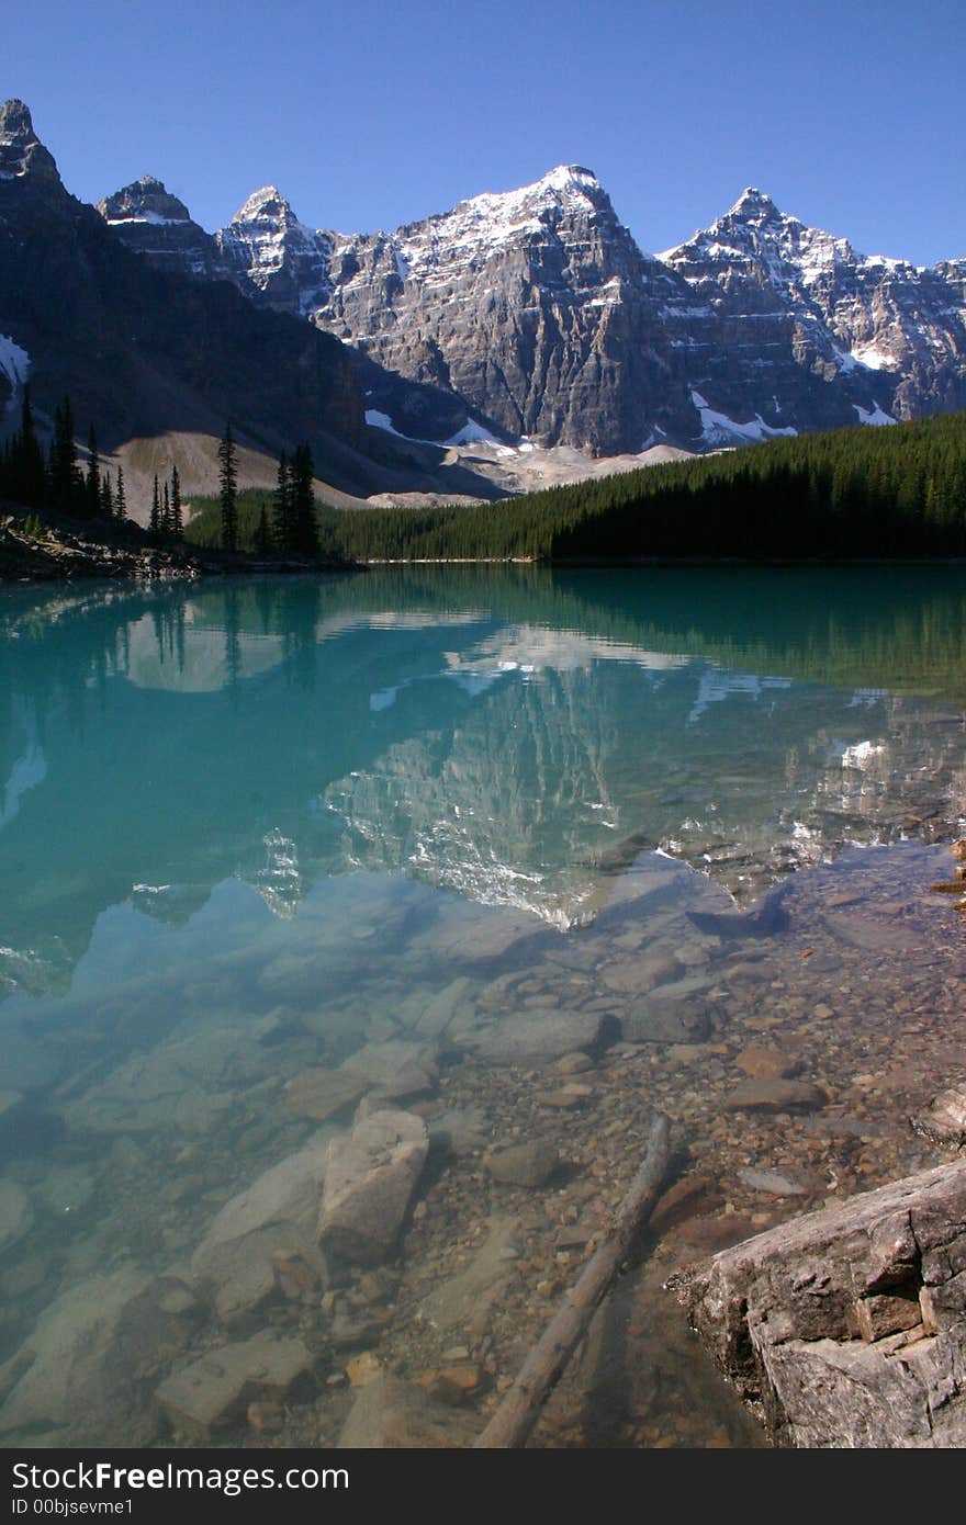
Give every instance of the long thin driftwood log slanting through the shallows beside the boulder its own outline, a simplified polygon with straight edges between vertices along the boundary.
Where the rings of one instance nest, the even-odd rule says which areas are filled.
[[[644,1162],[621,1202],[606,1240],[597,1247],[566,1292],[560,1308],[523,1362],[519,1377],[476,1440],[476,1447],[513,1450],[540,1417],[566,1363],[580,1344],[594,1310],[603,1302],[621,1272],[633,1241],[650,1217],[670,1156],[670,1124],[662,1112],[652,1113]]]

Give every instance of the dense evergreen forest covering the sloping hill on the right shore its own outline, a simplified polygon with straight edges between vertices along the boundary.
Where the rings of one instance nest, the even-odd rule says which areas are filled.
[[[220,543],[217,503],[188,537]],[[256,543],[270,494],[238,499]],[[368,560],[966,555],[966,413],[775,439],[479,506],[320,506],[319,532]]]

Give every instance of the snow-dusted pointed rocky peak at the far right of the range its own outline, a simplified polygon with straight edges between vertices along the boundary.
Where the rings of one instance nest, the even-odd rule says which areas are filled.
[[[664,259],[696,297],[682,342],[708,436],[714,410],[809,429],[966,406],[961,264],[861,255],[755,189]]]

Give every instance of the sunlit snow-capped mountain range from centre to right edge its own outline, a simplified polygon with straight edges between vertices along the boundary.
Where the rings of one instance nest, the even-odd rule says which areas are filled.
[[[157,223],[113,200],[150,252]],[[375,361],[371,418],[403,435],[443,441],[465,407],[504,441],[615,454],[966,406],[966,261],[861,255],[755,189],[659,258],[580,166],[392,233],[313,230],[270,186],[206,247],[198,273]]]

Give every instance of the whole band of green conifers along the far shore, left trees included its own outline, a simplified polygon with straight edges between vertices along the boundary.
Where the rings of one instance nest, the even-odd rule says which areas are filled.
[[[221,491],[186,506],[174,467],[154,482],[150,541],[272,558],[636,561],[966,555],[966,413],[775,439],[475,506],[334,509],[313,497],[307,445],[278,486],[238,490],[230,430]],[[79,461],[70,401],[43,450],[29,393],[0,451],[0,496],[75,518],[124,520],[124,474],[101,468],[92,429]]]

